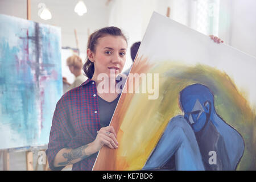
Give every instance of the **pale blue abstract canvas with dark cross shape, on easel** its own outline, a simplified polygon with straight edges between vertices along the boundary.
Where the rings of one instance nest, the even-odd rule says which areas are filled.
[[[62,94],[60,28],[0,15],[0,149],[48,143]]]

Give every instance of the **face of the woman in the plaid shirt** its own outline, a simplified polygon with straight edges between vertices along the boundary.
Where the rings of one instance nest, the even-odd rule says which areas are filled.
[[[95,53],[89,51],[88,57],[94,63],[94,78],[100,73],[115,77],[122,72],[126,61],[127,43],[122,36],[107,35],[98,39]],[[90,55],[91,54],[91,55]]]

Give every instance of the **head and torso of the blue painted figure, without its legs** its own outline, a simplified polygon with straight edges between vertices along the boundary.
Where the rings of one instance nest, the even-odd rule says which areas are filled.
[[[243,155],[243,138],[228,125],[214,108],[214,96],[202,84],[187,86],[180,92],[180,106],[184,118],[195,131],[206,170],[235,170]],[[216,162],[209,162],[210,152]]]

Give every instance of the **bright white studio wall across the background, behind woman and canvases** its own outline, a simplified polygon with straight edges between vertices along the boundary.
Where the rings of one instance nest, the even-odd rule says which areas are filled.
[[[129,47],[140,41],[146,31],[153,11],[165,15],[171,7],[170,18],[193,27],[191,14],[197,0],[84,0],[88,13],[77,15],[73,9],[74,0],[32,0],[31,20],[61,27],[62,46],[76,48],[74,28],[79,36],[79,47],[85,53],[90,33],[105,26],[118,26],[127,32]],[[205,0],[207,1],[207,0]],[[26,0],[1,0],[0,13],[26,19]],[[38,3],[43,2],[52,13],[51,20],[42,20],[38,16]],[[256,1],[255,0],[220,0],[220,19],[218,36],[226,44],[256,57]],[[127,64],[130,67],[130,51],[127,52]]]

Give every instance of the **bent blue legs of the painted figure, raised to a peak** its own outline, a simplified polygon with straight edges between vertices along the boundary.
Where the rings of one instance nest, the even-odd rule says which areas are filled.
[[[183,115],[170,120],[143,167],[143,170],[164,169],[204,170],[195,133]]]

